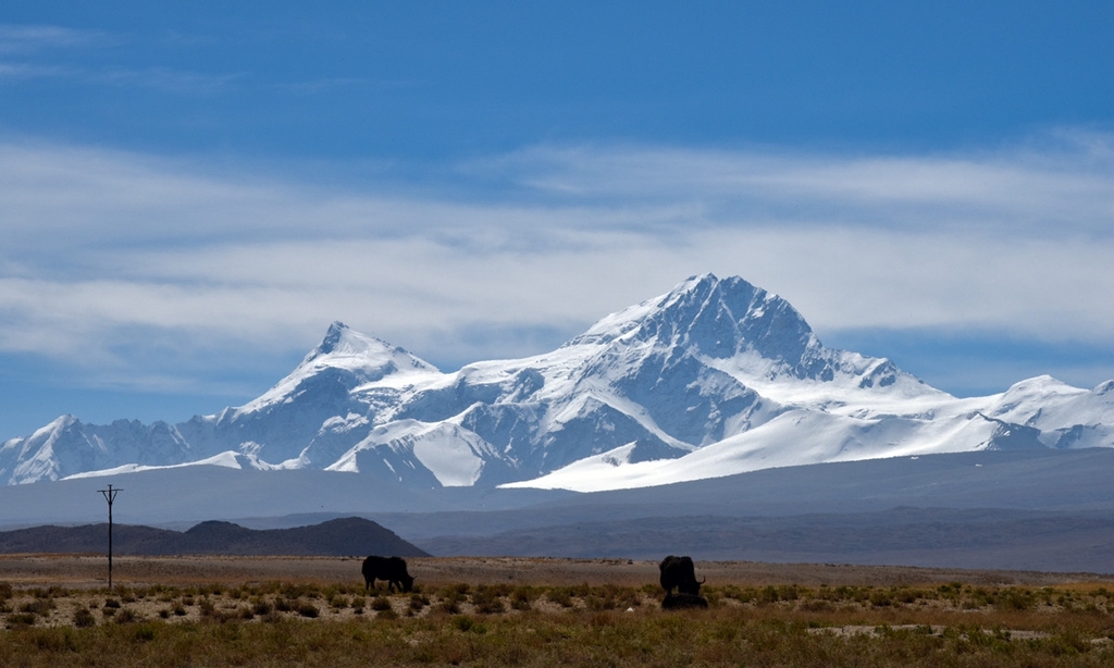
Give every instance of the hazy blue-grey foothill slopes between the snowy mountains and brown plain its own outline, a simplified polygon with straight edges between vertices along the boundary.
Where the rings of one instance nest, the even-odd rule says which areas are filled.
[[[1112,470],[1112,448],[1043,448],[782,466],[594,493],[414,489],[360,473],[223,466],[158,469],[111,481],[123,490],[115,504],[118,530],[174,529],[166,534],[175,541],[199,518],[270,530],[359,515],[438,557],[659,560],[674,553],[1114,573]],[[105,482],[76,478],[0,487],[0,528],[67,525],[42,529],[38,542],[16,542],[23,533],[0,534],[0,551],[104,553],[107,509],[97,490]],[[92,522],[100,523],[88,527]],[[85,532],[88,542],[71,543],[71,531]],[[164,549],[229,553],[244,531],[202,522],[187,533],[225,542]],[[356,542],[342,542],[333,553],[360,554],[359,546],[367,544],[359,528],[334,536]],[[121,533],[116,537],[118,544]],[[255,549],[291,553],[294,542]],[[313,550],[329,542],[314,539]]]

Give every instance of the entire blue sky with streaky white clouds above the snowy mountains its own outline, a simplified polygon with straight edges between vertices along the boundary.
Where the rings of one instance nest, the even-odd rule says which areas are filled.
[[[0,440],[442,369],[692,274],[942,390],[1114,377],[1111,2],[6,2]]]

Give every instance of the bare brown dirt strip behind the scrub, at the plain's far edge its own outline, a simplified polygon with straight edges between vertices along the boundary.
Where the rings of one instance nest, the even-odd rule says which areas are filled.
[[[655,561],[536,558],[412,558],[410,574],[427,587],[470,584],[619,584],[657,582]],[[253,582],[362,583],[358,557],[116,557],[113,583],[127,586],[247,584]],[[696,574],[716,584],[895,586],[964,582],[996,586],[1093,586],[1110,579],[1088,573],[975,571],[891,566],[697,561]],[[0,554],[0,582],[13,588],[102,588],[104,556]]]

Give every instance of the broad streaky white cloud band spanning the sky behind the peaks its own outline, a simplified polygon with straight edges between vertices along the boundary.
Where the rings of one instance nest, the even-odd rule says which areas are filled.
[[[1114,151],[1085,139],[925,157],[538,148],[462,166],[469,198],[461,181],[324,187],[9,143],[0,351],[118,374],[158,341],[173,373],[222,347],[305,350],[344,320],[427,357],[512,356],[706,271],[785,296],[821,334],[1107,342]]]

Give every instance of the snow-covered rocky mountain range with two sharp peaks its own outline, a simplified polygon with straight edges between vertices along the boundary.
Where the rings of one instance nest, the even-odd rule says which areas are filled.
[[[561,347],[442,373],[341,323],[268,392],[188,422],[59,418],[0,446],[8,484],[209,463],[421,488],[604,490],[896,455],[1114,446],[1114,381],[956,399],[824,347],[781,297],[692,277]]]

